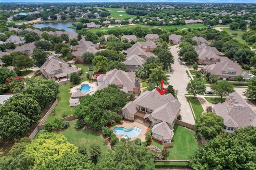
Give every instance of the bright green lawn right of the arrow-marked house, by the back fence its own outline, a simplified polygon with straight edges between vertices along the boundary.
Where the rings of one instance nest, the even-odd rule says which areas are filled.
[[[189,160],[190,156],[194,154],[195,150],[198,149],[199,145],[195,138],[195,131],[190,129],[186,129],[180,125],[174,125],[174,137],[172,139],[173,147],[168,147],[170,150],[170,155],[168,160]],[[162,145],[156,141],[152,141],[151,145],[155,145],[160,150],[162,149]],[[156,162],[156,165],[170,165],[172,164],[183,164],[187,165],[187,162]]]

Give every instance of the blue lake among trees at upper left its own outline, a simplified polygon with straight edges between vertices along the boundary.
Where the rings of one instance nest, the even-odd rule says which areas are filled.
[[[53,27],[56,29],[65,29],[66,31],[75,33],[76,29],[68,28],[68,27],[72,26],[72,23],[78,23],[78,22],[39,23],[39,24],[36,24],[33,26],[35,28]]]

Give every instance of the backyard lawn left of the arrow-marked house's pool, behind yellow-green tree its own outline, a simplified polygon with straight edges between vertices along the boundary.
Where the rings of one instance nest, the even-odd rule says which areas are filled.
[[[70,143],[76,145],[76,147],[86,147],[87,152],[89,152],[89,148],[92,143],[100,146],[102,153],[106,153],[108,149],[110,149],[108,147],[108,141],[100,137],[100,131],[92,131],[86,127],[77,130],[74,128],[75,124],[76,120],[70,121],[70,127],[60,132],[68,139]]]

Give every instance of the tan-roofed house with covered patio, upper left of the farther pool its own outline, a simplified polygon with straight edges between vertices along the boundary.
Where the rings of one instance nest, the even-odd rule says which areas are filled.
[[[40,71],[46,78],[58,80],[59,78],[68,78],[71,73],[78,72],[79,70],[70,67],[66,61],[53,57],[46,60],[40,67]]]

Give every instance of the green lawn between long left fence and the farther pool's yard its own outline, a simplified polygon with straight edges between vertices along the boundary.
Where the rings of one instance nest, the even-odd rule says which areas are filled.
[[[74,114],[75,108],[69,107],[69,98],[71,97],[71,93],[68,92],[68,89],[70,88],[72,88],[72,83],[60,86],[60,93],[57,96],[58,104],[55,107],[55,113],[51,113],[45,123],[51,122],[55,118],[61,119],[61,114],[64,112],[66,112],[68,116]]]

